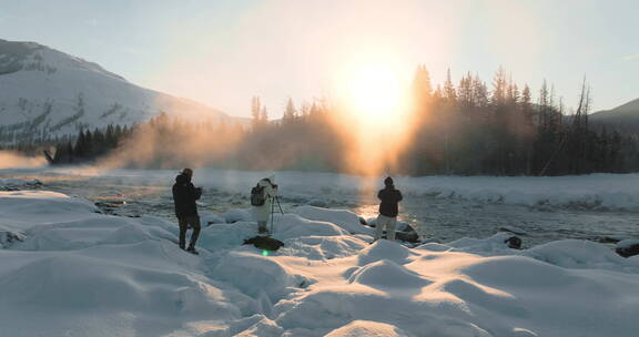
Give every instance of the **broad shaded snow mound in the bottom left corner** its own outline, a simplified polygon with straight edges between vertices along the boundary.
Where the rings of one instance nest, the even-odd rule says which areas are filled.
[[[140,248],[139,262],[113,258],[113,249],[88,256],[0,251],[0,259],[13,262],[0,266],[3,329],[12,336],[159,336],[182,321],[240,317],[221,289],[173,261],[153,258],[149,245]]]

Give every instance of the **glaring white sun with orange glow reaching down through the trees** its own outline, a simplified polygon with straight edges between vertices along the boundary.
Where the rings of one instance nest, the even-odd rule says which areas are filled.
[[[352,62],[338,82],[336,122],[349,137],[346,167],[368,176],[392,170],[410,127],[405,73],[384,61]]]

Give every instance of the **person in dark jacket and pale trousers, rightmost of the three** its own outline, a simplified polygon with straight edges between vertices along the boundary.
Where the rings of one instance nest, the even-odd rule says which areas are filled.
[[[384,180],[384,190],[377,193],[377,197],[382,201],[379,203],[379,216],[375,223],[375,241],[382,237],[384,227],[386,227],[386,238],[389,241],[395,239],[395,225],[397,224],[397,214],[402,201],[402,192],[395,188],[392,177]]]

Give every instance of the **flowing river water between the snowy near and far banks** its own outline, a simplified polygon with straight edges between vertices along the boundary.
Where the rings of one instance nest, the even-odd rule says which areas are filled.
[[[194,177],[196,185],[197,173]],[[211,174],[210,180],[201,178],[204,194],[199,202],[200,210],[223,213],[231,208],[250,207],[250,186],[257,181],[260,173],[207,173]],[[37,178],[43,183],[40,188],[85,197],[108,213],[122,216],[150,214],[172,221],[175,221],[171,197],[174,175],[174,171],[165,170],[0,171],[0,178]],[[335,184],[317,187],[324,181],[335,181]],[[376,216],[375,193],[353,188],[348,184],[342,186],[343,181],[343,176],[327,173],[288,174],[287,180],[280,181],[282,206],[286,212],[298,205],[312,204],[347,208],[364,218]],[[637,237],[639,233],[637,212],[530,207],[435,196],[405,196],[400,204],[399,221],[415,227],[423,238],[440,242],[465,236],[481,238],[507,228],[518,233],[527,247],[565,238],[607,243],[617,238]]]

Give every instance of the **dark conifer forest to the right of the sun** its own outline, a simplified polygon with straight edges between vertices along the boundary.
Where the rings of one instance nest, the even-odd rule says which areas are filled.
[[[413,83],[413,141],[403,154],[408,174],[565,175],[633,172],[639,168],[636,135],[598,132],[588,113],[590,89],[584,80],[576,108],[546,81],[534,101],[499,69],[491,88],[465,74],[454,85],[448,71],[433,89],[425,67]]]

